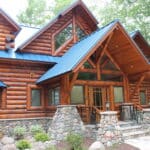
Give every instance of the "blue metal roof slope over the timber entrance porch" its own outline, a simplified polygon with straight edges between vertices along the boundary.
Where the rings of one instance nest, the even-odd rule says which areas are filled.
[[[100,28],[96,32],[87,36],[82,41],[72,46],[68,50],[68,52],[65,53],[64,56],[62,56],[59,63],[49,69],[44,75],[42,75],[41,78],[37,80],[37,83],[41,83],[47,79],[51,79],[72,71],[81,62],[81,60],[93,49],[93,47],[97,45],[100,40],[103,39],[106,33],[108,33],[117,22],[118,20],[111,22],[107,26]]]

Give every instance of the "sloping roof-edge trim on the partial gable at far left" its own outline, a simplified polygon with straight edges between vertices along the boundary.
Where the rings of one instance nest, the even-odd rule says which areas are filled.
[[[20,31],[20,26],[0,8],[0,14],[16,29],[16,31]]]

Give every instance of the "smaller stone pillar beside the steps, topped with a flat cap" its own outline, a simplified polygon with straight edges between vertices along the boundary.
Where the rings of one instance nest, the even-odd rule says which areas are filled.
[[[101,120],[97,134],[97,140],[104,145],[110,146],[122,141],[122,134],[119,130],[116,111],[100,112]]]

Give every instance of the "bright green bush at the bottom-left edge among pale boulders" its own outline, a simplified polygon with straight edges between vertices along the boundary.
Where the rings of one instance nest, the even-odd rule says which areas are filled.
[[[19,140],[16,143],[16,146],[19,150],[25,150],[25,149],[31,148],[31,144],[27,140]]]

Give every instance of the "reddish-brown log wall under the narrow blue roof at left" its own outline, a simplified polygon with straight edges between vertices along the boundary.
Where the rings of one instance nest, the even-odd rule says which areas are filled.
[[[7,85],[7,88],[3,90],[3,107],[0,108],[0,119],[45,116],[44,109],[27,110],[27,87],[35,85],[36,80],[47,69],[48,66],[42,64],[0,63],[0,80]]]

